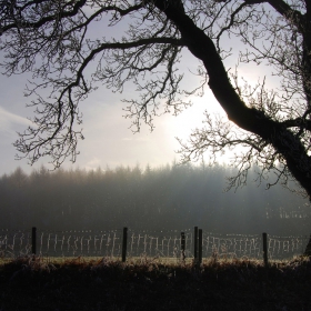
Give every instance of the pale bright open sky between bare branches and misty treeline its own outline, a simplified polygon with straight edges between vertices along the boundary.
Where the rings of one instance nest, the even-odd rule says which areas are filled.
[[[18,139],[17,132],[22,132],[31,124],[27,118],[33,116],[33,108],[26,108],[30,100],[23,96],[28,79],[31,80],[29,74],[10,78],[0,76],[0,175],[11,173],[17,167],[26,172],[40,169],[42,164],[49,167],[47,158],[33,167],[28,164],[27,159],[16,160],[17,150],[12,143]],[[128,89],[128,93],[136,96],[131,89]],[[175,138],[187,140],[192,129],[200,128],[207,108],[209,111],[223,113],[213,96],[208,92],[203,98],[194,98],[193,106],[177,117],[158,117],[152,132],[144,126],[139,133],[133,133],[129,129],[130,120],[123,117],[122,111],[126,103],[121,99],[127,98],[128,93],[112,93],[103,86],[81,103],[86,139],[79,141],[80,154],[77,162],[72,164],[67,161],[63,168],[91,170],[98,167],[104,169],[107,165],[113,169],[139,164],[143,169],[147,164],[156,168],[179,161],[177,150],[180,146]]]

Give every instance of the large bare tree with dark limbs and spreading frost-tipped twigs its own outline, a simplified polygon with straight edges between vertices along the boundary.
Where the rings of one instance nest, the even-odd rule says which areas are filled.
[[[182,160],[213,157],[243,146],[234,159],[239,173],[230,187],[245,182],[255,162],[260,178],[274,171],[277,180],[298,181],[311,197],[311,1],[310,0],[1,0],[1,42],[6,74],[30,71],[37,83],[34,126],[20,134],[18,151],[36,162],[50,156],[59,167],[77,157],[83,138],[79,102],[104,83],[122,91],[136,84],[140,98],[124,100],[136,130],[163,111],[180,112],[188,97],[209,87],[229,120],[205,112],[205,127],[181,142]],[[106,37],[93,38],[98,24]],[[106,27],[123,29],[109,38]],[[110,31],[111,33],[111,31]],[[240,39],[239,51],[228,38]],[[182,50],[199,60],[201,83],[182,87]],[[225,58],[239,63],[269,64],[279,78],[278,90],[265,80],[251,88],[225,68]],[[96,63],[96,66],[92,64]],[[91,68],[92,74],[87,74]],[[40,89],[50,89],[42,98]],[[78,127],[78,129],[77,129]]]

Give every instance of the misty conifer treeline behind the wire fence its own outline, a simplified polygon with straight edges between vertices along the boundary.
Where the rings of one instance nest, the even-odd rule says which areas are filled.
[[[308,234],[305,200],[273,187],[249,184],[223,192],[229,168],[165,165],[96,171],[20,168],[0,179],[0,228],[108,230],[129,227],[220,233]]]

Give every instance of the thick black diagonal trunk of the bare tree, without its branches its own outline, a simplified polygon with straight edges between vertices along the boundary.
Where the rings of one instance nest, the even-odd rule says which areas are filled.
[[[271,120],[264,112],[245,106],[232,87],[213,41],[185,14],[180,0],[171,2],[158,0],[154,3],[177,26],[190,52],[202,60],[209,74],[209,87],[228,118],[241,129],[258,134],[272,144],[285,159],[291,174],[310,199],[311,157],[308,156],[299,137],[281,122]]]

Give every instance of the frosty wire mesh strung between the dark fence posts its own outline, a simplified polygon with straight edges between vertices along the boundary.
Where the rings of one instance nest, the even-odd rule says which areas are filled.
[[[194,232],[183,231],[184,251],[180,231],[129,230],[127,258],[194,258]],[[16,258],[33,252],[31,230],[0,230],[0,257]],[[49,257],[107,257],[122,255],[122,230],[110,231],[44,231],[38,230],[36,253]],[[309,237],[277,237],[268,234],[269,260],[290,259],[304,252]],[[262,259],[262,234],[202,233],[202,258],[250,258]]]

